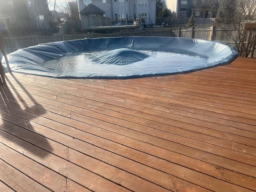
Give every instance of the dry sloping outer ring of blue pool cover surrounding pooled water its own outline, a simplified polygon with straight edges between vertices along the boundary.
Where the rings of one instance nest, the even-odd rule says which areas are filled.
[[[146,45],[151,43],[150,49],[146,48]],[[110,76],[104,74],[61,74],[52,73],[47,71],[46,68],[40,66],[47,60],[59,58],[67,53],[86,51],[90,49],[111,49],[114,46],[118,48],[135,48],[135,50],[166,50],[165,46],[175,44],[175,48],[180,49],[182,46],[186,46],[186,50],[193,52],[210,52],[223,53],[227,52],[224,58],[221,58],[217,62],[212,62],[204,66],[196,66],[194,68],[176,71],[176,72],[161,72],[152,74],[135,74],[129,76]],[[200,44],[202,47],[200,47]],[[183,49],[185,50],[185,49]],[[199,53],[200,54],[200,53]],[[208,53],[206,53],[208,54]],[[209,53],[210,56],[211,53]],[[204,54],[202,54],[204,55]],[[238,57],[238,52],[233,46],[226,43],[206,41],[201,39],[189,39],[189,38],[178,38],[178,37],[109,37],[109,38],[85,38],[80,40],[68,40],[60,42],[50,42],[45,44],[39,44],[36,46],[30,46],[23,48],[8,54],[8,60],[12,72],[31,74],[37,76],[46,76],[53,78],[95,78],[95,79],[126,79],[126,78],[142,78],[150,76],[164,76],[172,74],[183,74],[189,72],[195,72],[198,70],[204,70],[216,66],[230,64]],[[2,60],[3,66],[6,69],[4,58]]]

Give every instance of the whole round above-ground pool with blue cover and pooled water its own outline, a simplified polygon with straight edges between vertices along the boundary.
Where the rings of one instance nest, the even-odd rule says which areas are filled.
[[[40,44],[8,54],[12,72],[56,78],[185,73],[228,64],[237,57],[238,52],[226,44],[176,37],[86,38]]]

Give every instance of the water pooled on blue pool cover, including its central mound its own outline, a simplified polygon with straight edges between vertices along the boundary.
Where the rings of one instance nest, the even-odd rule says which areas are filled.
[[[130,51],[133,53],[132,56],[129,54],[122,56],[122,53],[121,56],[120,54],[112,54],[113,52],[116,53],[116,50],[77,52],[48,60],[42,66],[58,73],[104,74],[110,71],[111,74],[120,74],[120,71],[125,71],[128,74],[134,74],[140,70],[150,73],[155,69],[155,65],[161,70],[170,71],[171,69],[182,70],[189,67],[190,63],[186,62],[188,60],[193,60],[198,65],[207,62],[207,58],[190,54],[144,50]]]

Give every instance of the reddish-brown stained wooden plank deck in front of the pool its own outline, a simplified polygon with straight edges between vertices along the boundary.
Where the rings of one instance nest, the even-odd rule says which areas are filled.
[[[7,75],[0,191],[256,191],[256,59],[132,80]]]

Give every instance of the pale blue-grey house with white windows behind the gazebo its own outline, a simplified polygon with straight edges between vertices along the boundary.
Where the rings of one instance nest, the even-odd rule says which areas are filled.
[[[111,20],[141,18],[146,24],[156,22],[156,0],[78,0],[79,12],[89,4],[102,10],[104,13],[99,14]]]

